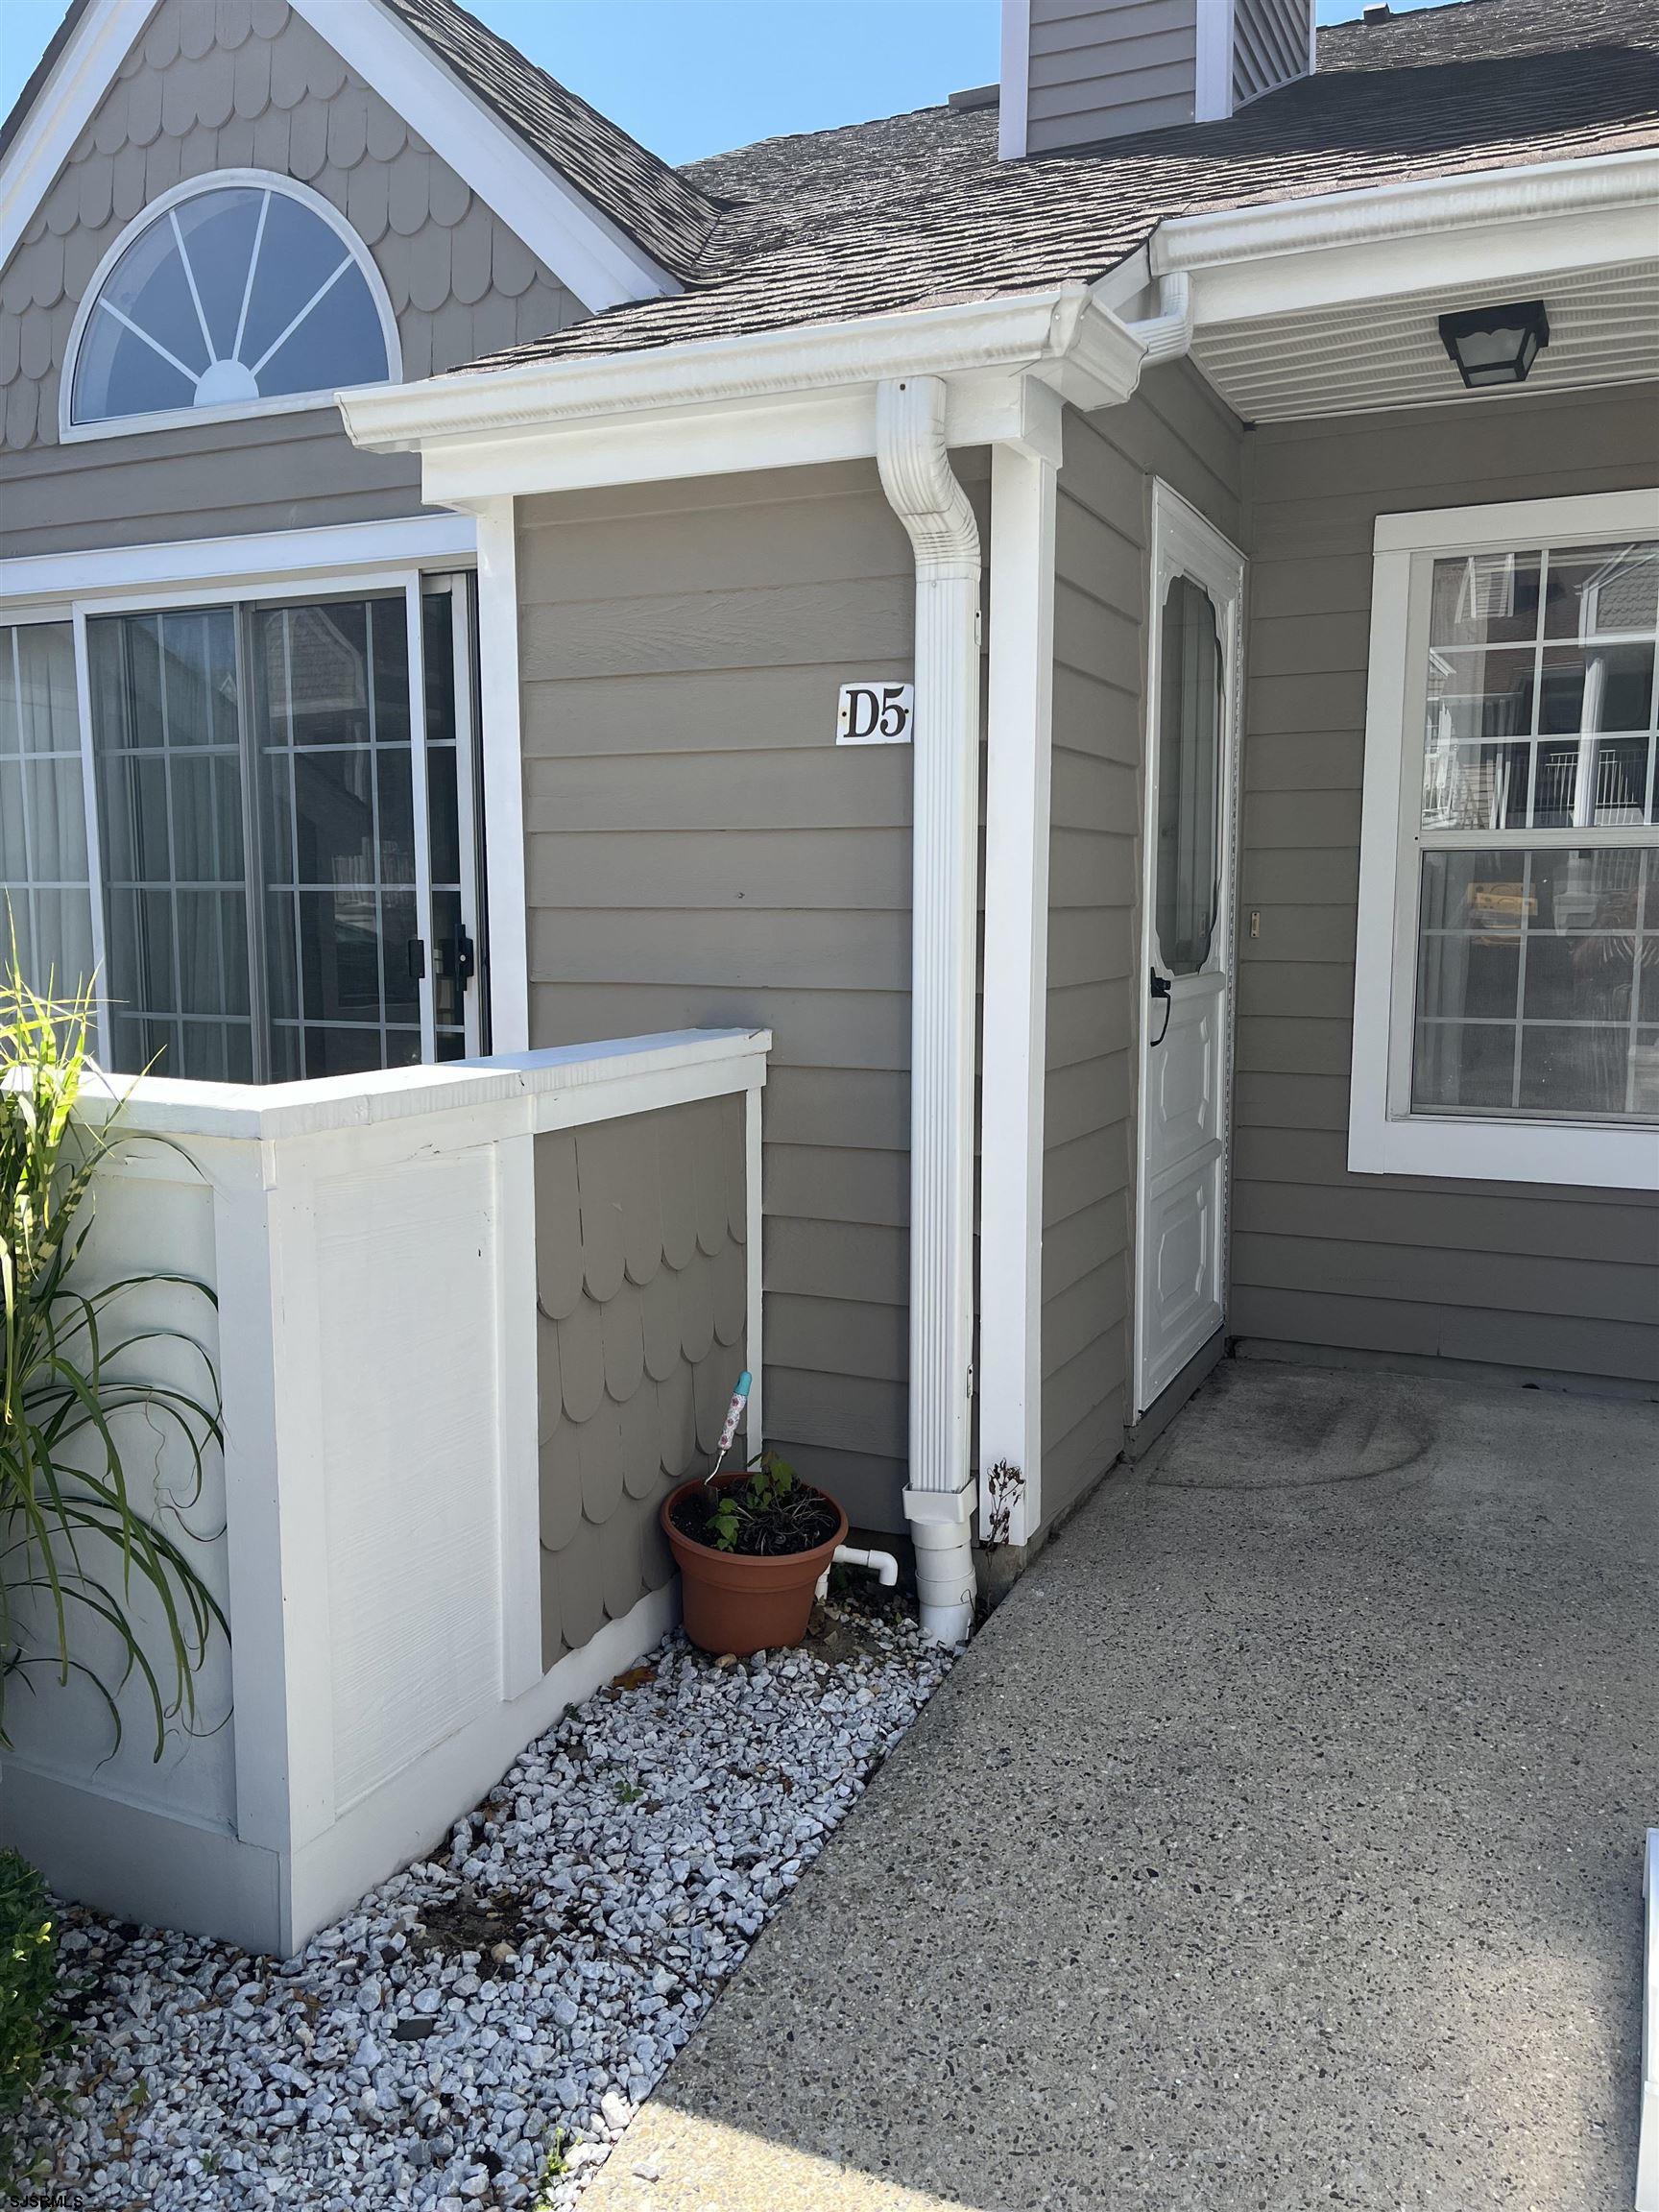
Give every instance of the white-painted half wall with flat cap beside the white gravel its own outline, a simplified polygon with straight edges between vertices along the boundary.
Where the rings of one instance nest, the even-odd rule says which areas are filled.
[[[22,1714],[0,1836],[60,1893],[288,1955],[672,1626],[668,1584],[540,1666],[533,1146],[692,1099],[759,1106],[770,1042],[686,1031],[265,1091],[131,1086],[93,1250],[106,1274],[217,1287],[217,1329],[195,1292],[144,1298],[206,1325],[217,1358],[226,1447],[188,1522],[232,1635],[199,1681],[217,1725],[159,1763],[131,1694],[113,1759],[73,1681]],[[759,1221],[748,1234],[759,1250]],[[164,1360],[168,1380],[195,1360],[177,1378],[201,1387],[188,1347],[148,1371]],[[177,1493],[179,1458],[188,1473],[173,1444],[155,1464],[133,1447],[128,1473]]]

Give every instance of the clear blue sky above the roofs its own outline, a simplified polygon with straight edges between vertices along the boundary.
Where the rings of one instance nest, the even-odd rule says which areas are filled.
[[[0,115],[66,0],[0,0]],[[1429,0],[1394,0],[1396,11]],[[998,0],[469,0],[666,161],[929,106],[998,75]],[[1321,22],[1360,0],[1318,0]]]

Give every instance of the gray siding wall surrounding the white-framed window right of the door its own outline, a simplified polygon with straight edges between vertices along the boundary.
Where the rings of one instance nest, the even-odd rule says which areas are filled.
[[[1239,1336],[1659,1380],[1659,1201],[1347,1172],[1376,515],[1652,482],[1657,407],[1655,387],[1515,396],[1248,440]]]

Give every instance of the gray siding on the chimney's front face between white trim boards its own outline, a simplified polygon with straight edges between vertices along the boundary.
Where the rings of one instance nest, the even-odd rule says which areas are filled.
[[[1197,0],[1031,0],[1026,148],[1192,122]]]

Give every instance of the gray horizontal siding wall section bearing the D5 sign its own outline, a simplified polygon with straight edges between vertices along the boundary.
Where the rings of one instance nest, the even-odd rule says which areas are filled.
[[[914,562],[869,465],[520,518],[531,1035],[765,1024],[768,1436],[902,1526]]]

